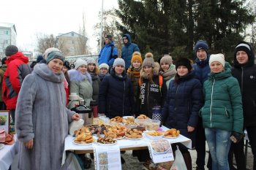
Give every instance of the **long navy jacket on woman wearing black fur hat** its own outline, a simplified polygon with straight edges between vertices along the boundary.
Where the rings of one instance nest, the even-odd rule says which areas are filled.
[[[162,109],[162,120],[167,128],[176,128],[189,139],[195,137],[195,131],[189,133],[187,125],[196,128],[198,112],[203,106],[203,88],[199,80],[193,78],[193,72],[179,77],[179,83],[171,80],[165,105]]]

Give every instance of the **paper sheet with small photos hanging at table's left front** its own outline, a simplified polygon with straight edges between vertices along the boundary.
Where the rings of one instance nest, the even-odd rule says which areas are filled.
[[[95,167],[97,170],[120,170],[121,155],[118,145],[94,146]]]

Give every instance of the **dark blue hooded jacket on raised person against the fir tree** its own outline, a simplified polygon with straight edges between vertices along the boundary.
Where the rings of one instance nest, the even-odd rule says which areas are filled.
[[[123,58],[125,61],[125,69],[128,69],[129,66],[131,66],[132,53],[135,51],[140,52],[140,49],[138,45],[132,43],[132,38],[129,34],[124,34],[124,36],[127,36],[128,42],[121,49],[121,58]]]

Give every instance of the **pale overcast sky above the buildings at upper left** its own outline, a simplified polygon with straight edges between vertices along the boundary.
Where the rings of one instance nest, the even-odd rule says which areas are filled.
[[[104,10],[118,7],[117,0],[104,0]],[[102,0],[1,0],[0,22],[14,23],[17,45],[34,50],[37,34],[78,33],[86,15],[89,46],[96,50],[93,26],[99,23]]]

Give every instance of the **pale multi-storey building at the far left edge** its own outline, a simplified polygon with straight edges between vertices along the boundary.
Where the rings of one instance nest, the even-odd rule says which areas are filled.
[[[13,23],[0,23],[0,57],[4,57],[4,50],[8,45],[16,45],[16,28]]]

